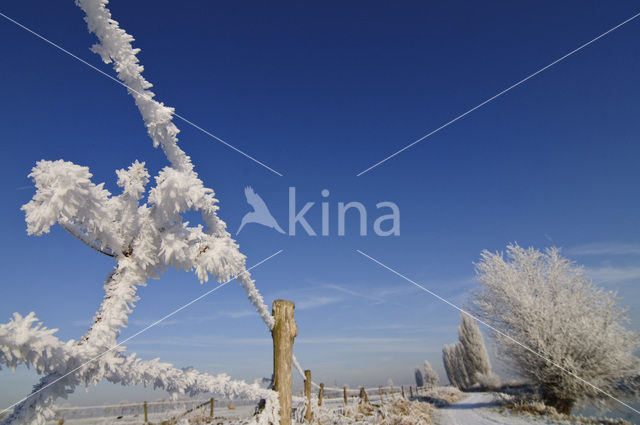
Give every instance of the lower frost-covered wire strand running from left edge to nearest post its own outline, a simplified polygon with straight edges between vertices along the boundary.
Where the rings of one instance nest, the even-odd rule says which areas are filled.
[[[123,348],[97,347],[73,340],[62,343],[49,330],[37,323],[33,313],[18,314],[8,324],[0,325],[2,361],[11,367],[24,364],[46,375],[34,386],[33,397],[27,398],[3,424],[41,423],[53,415],[56,398],[65,397],[76,386],[101,380],[122,385],[153,385],[172,396],[195,396],[215,393],[228,398],[265,399],[263,421],[277,423],[277,394],[257,384],[232,381],[227,375],[212,376],[195,369],[176,369],[169,363],[143,361],[135,354],[125,356]],[[265,422],[266,423],[266,422]]]

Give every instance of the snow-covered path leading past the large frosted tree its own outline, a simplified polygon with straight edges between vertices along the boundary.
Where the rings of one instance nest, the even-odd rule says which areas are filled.
[[[495,406],[494,396],[490,393],[472,393],[458,403],[438,409],[438,425],[525,425],[531,423],[552,423],[524,418],[516,415],[502,415],[488,409]]]

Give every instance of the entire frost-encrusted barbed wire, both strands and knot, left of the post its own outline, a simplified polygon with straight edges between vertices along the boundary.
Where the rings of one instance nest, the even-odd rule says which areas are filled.
[[[27,231],[49,232],[60,224],[71,235],[114,260],[104,283],[105,297],[93,324],[79,341],[62,342],[55,329],[38,323],[34,313],[0,325],[0,364],[21,364],[42,374],[31,395],[17,404],[3,424],[43,424],[51,419],[55,400],[81,384],[107,380],[123,385],[152,384],[172,395],[215,392],[227,397],[265,399],[263,414],[252,420],[278,422],[275,392],[211,376],[191,368],[176,369],[158,359],[142,361],[125,355],[118,345],[121,329],[137,301],[136,290],[168,267],[193,271],[201,282],[209,276],[224,282],[231,278],[243,286],[269,328],[273,318],[245,266],[245,257],[217,216],[218,201],[204,186],[190,158],[177,144],[173,109],[153,100],[151,84],[142,76],[133,37],[119,28],[106,8],[107,0],[77,0],[89,31],[99,42],[92,50],[113,63],[118,78],[135,99],[155,147],[164,151],[168,165],[146,191],[149,173],[135,161],[116,171],[121,193],[111,194],[91,181],[87,167],[66,162],[39,161],[29,175],[35,183],[33,199],[24,205]],[[146,192],[146,197],[145,197]],[[183,220],[187,211],[201,214],[204,226]]]

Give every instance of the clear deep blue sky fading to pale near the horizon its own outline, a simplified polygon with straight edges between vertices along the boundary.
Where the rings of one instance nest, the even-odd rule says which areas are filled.
[[[634,2],[114,1],[136,38],[157,98],[284,176],[185,123],[182,148],[221,201],[235,233],[251,185],[281,225],[288,188],[320,228],[328,189],[331,235],[295,237],[249,225],[237,240],[271,303],[297,304],[295,352],[315,380],[412,382],[458,313],[359,255],[360,249],[454,303],[476,286],[473,262],[509,242],[563,247],[596,283],[616,289],[640,329],[640,21],[633,21],[361,177],[356,174],[638,12]],[[3,2],[2,13],[112,74],[68,2]],[[0,320],[35,311],[62,339],[79,338],[112,262],[59,228],[26,234],[20,206],[35,161],[87,165],[116,191],[114,170],[153,149],[124,89],[0,19],[0,116],[5,243]],[[337,236],[338,202],[362,202]],[[395,202],[401,234],[372,234],[375,204]],[[141,288],[123,336],[211,288],[169,271]],[[253,380],[271,371],[269,334],[229,285],[127,343],[144,358]],[[31,372],[0,372],[0,401],[26,395]],[[78,402],[162,397],[109,385]]]

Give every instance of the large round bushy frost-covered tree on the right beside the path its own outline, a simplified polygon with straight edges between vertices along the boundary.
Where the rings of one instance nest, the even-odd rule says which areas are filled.
[[[616,294],[593,285],[582,267],[557,248],[509,245],[506,258],[483,251],[476,271],[476,313],[504,333],[493,335],[500,353],[548,405],[570,413],[577,400],[629,388],[640,368],[638,335],[625,328]]]

